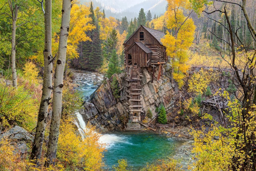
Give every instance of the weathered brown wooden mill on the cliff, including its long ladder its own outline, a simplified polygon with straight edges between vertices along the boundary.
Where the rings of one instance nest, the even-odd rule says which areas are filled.
[[[130,120],[141,121],[141,77],[143,68],[148,69],[154,79],[159,80],[162,65],[167,61],[166,48],[161,39],[165,33],[150,29],[145,26],[138,27],[135,32],[124,42],[126,81],[128,86]],[[158,72],[157,78],[154,78]]]

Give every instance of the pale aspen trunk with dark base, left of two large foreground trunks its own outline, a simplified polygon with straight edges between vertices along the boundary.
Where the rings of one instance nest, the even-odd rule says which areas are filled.
[[[45,0],[44,13],[44,77],[43,94],[41,97],[40,108],[37,119],[37,130],[32,146],[30,159],[38,165],[38,159],[41,158],[44,130],[46,127],[46,118],[48,116],[48,105],[51,99],[52,89],[52,0]]]

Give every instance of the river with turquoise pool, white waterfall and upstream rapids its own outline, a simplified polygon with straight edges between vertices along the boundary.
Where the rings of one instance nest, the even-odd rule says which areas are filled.
[[[102,75],[95,72],[74,72],[74,82],[79,84],[85,99],[96,90],[102,81]],[[85,127],[82,116],[77,113],[79,125]],[[77,124],[77,123],[76,123]],[[77,124],[78,125],[78,124]],[[79,128],[80,133],[82,129]],[[102,134],[100,141],[107,144],[104,152],[104,169],[111,170],[112,166],[118,165],[118,159],[126,159],[129,166],[138,170],[146,164],[151,164],[157,159],[166,159],[173,156],[176,149],[184,141],[177,138],[166,138],[165,136],[152,133],[135,132],[113,132]]]

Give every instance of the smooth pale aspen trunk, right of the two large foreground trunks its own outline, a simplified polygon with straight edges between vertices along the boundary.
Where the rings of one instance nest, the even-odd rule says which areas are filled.
[[[55,164],[57,143],[59,138],[60,117],[62,114],[62,88],[63,88],[63,72],[65,69],[66,61],[66,46],[68,43],[68,31],[71,12],[71,1],[63,0],[62,3],[62,26],[60,27],[60,40],[58,60],[54,76],[54,89],[53,89],[53,109],[52,120],[49,133],[49,144],[46,153],[47,161],[46,166]]]

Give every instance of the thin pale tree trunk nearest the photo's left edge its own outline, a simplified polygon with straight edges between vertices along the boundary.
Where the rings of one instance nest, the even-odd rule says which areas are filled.
[[[12,18],[12,85],[17,87],[17,72],[16,72],[16,21],[18,19],[18,5],[15,5],[14,14]]]

